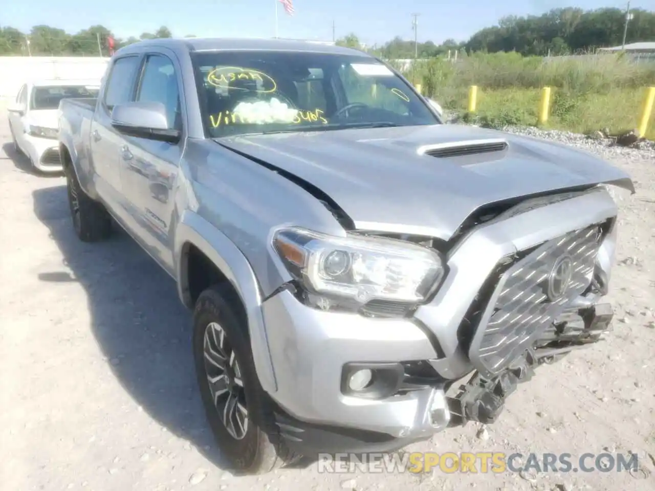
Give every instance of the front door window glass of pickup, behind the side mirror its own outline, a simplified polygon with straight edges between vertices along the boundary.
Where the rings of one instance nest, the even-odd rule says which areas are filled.
[[[166,107],[168,128],[181,129],[178,79],[173,62],[166,56],[147,57],[136,100],[162,103]]]

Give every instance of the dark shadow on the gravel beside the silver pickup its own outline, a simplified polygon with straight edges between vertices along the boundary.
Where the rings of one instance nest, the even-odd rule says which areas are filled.
[[[223,467],[196,388],[191,313],[174,281],[118,225],[107,242],[80,242],[65,186],[38,189],[33,200],[64,258],[61,271],[39,280],[82,285],[92,333],[122,387],[161,426]]]

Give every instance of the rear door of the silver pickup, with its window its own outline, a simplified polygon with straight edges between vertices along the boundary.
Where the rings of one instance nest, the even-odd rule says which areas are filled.
[[[124,136],[111,126],[111,111],[117,104],[134,100],[140,54],[113,60],[104,90],[91,122],[90,148],[96,170],[96,189],[102,199],[120,217],[125,200],[121,183],[121,148]]]

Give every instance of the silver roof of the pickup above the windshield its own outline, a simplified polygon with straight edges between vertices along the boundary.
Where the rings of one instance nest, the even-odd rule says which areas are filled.
[[[369,56],[365,52],[343,46],[332,45],[324,41],[301,41],[295,39],[256,39],[256,38],[202,38],[187,37],[184,39],[147,39],[125,46],[119,51],[130,48],[145,48],[147,46],[163,46],[170,48],[186,48],[189,51],[220,51],[220,50],[284,50],[305,51],[335,54],[359,54]]]

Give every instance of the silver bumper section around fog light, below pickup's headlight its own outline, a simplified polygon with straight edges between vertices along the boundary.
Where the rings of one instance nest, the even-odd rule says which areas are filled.
[[[278,382],[273,397],[284,413],[313,424],[392,437],[434,433],[428,409],[435,398],[443,400],[439,386],[382,400],[352,397],[341,390],[348,363],[435,357],[428,336],[413,321],[321,312],[301,304],[290,291],[264,302],[263,314]]]

